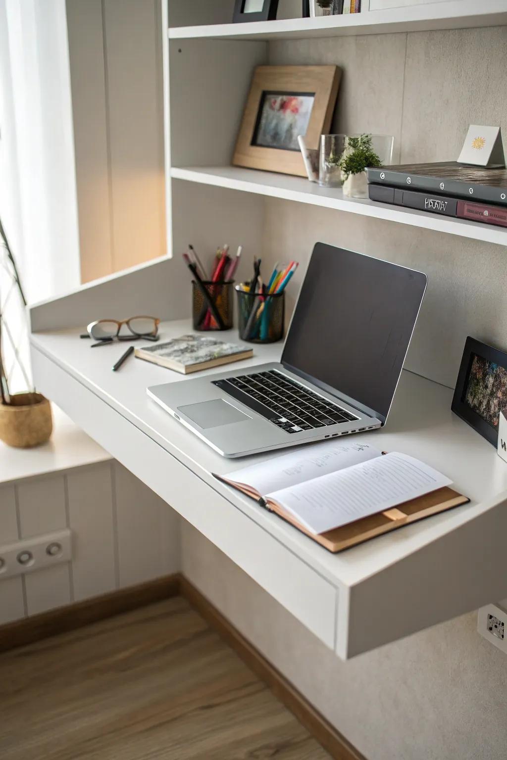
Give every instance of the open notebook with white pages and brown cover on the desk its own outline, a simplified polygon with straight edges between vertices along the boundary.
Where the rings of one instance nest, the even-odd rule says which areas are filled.
[[[355,442],[326,441],[215,477],[335,552],[468,501],[433,467]]]

